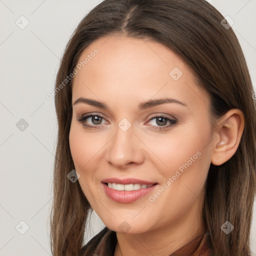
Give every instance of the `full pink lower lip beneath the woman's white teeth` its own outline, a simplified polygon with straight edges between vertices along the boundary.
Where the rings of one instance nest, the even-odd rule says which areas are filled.
[[[115,190],[113,188],[108,187],[105,183],[103,184],[103,188],[108,197],[112,200],[120,203],[128,203],[137,200],[138,198],[150,193],[157,184],[154,184],[147,188],[140,188],[137,190],[126,191],[126,190]]]

